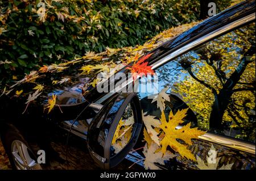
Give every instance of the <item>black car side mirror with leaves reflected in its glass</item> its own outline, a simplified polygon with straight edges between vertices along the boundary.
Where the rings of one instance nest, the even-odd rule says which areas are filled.
[[[103,169],[120,163],[136,144],[142,129],[139,98],[119,93],[102,107],[88,129],[89,153]]]

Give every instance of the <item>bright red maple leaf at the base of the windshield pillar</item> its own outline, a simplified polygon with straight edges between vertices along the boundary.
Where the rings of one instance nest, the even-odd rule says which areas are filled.
[[[133,74],[133,81],[135,81],[139,75],[139,77],[143,77],[147,74],[154,75],[154,70],[152,70],[152,66],[148,66],[148,62],[144,62],[152,55],[152,53],[143,56],[137,63],[133,64],[129,69]],[[138,60],[138,56],[135,57],[135,60]]]

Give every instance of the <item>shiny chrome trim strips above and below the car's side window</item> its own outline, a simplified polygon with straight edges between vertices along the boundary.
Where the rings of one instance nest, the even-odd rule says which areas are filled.
[[[180,56],[181,54],[188,52],[189,50],[192,50],[193,48],[206,43],[207,41],[214,39],[214,37],[217,37],[221,35],[222,33],[228,32],[232,30],[233,28],[236,28],[238,26],[242,26],[243,24],[246,24],[247,22],[255,20],[255,12],[253,14],[247,15],[239,20],[236,20],[232,23],[227,24],[224,27],[218,28],[217,30],[208,33],[207,35],[204,35],[202,37],[199,37],[199,39],[196,39],[195,41],[192,41],[191,43],[184,45],[180,49],[175,50],[174,52],[168,54],[166,57],[161,58],[160,60],[156,61],[154,64],[152,64],[152,69],[155,70],[159,68],[159,66],[162,66],[163,64],[166,64],[168,61],[171,61],[172,59]],[[137,78],[138,79],[138,78]],[[131,82],[127,82],[127,85],[129,85]],[[99,100],[97,100],[96,104],[101,104],[104,102],[104,100],[108,99],[110,96],[113,95],[113,92],[109,92],[108,94],[102,96]],[[179,127],[177,127],[179,129]],[[246,151],[247,153],[255,154],[255,144],[250,144],[243,141],[235,140],[234,138],[229,138],[225,136],[216,135],[213,133],[205,133],[203,136],[199,137],[200,140],[213,142],[215,144],[227,146],[229,148]]]

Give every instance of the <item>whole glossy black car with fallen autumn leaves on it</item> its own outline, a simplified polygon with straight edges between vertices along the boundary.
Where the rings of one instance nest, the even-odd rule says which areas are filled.
[[[214,147],[215,169],[224,165],[255,169],[255,1],[222,11],[147,55],[148,65],[158,75],[159,90],[168,94],[163,112],[187,110],[184,123],[207,131],[192,141],[191,153],[205,160]],[[143,169],[144,156],[138,149],[145,144],[143,116],[161,117],[154,95],[140,90],[99,92],[85,87],[87,79],[76,69],[68,73],[72,81],[57,89],[45,86],[46,91],[26,109],[27,98],[1,96],[1,140],[13,168],[127,169],[135,162],[133,168]],[[52,82],[42,80],[44,85]],[[142,84],[139,79],[138,85]],[[133,81],[126,81],[120,90],[131,85]],[[32,89],[29,86],[20,84],[19,89]],[[56,105],[48,114],[43,108],[54,95]],[[129,117],[133,118],[133,124],[127,125],[130,137],[117,148],[115,131]],[[42,150],[46,164],[38,163]],[[203,169],[198,164],[179,154],[156,163],[162,169]]]

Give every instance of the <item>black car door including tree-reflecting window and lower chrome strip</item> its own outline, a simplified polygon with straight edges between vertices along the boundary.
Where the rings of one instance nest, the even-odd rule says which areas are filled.
[[[185,123],[207,131],[188,147],[197,162],[178,154],[178,169],[255,169],[255,22],[238,25],[155,69],[166,117],[187,109]],[[160,119],[152,94],[138,92],[142,110]]]

